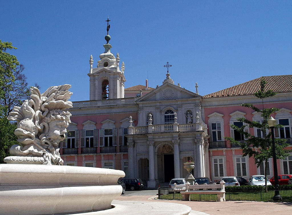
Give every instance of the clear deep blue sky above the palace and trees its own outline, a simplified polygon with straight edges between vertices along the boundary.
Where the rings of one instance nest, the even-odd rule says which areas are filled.
[[[71,84],[72,101],[89,99],[89,57],[125,62],[125,87],[155,88],[168,61],[175,84],[206,95],[260,76],[292,74],[292,1],[4,1],[0,39],[41,92]]]

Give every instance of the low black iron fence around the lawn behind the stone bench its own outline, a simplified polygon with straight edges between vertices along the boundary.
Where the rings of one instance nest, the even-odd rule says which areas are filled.
[[[185,191],[183,188],[172,189],[169,187],[158,188],[158,198],[166,200],[182,200],[180,192]],[[264,201],[272,202],[275,191],[269,190],[267,193],[259,191],[226,191],[225,198],[227,201]],[[292,202],[292,190],[280,190],[283,202]],[[217,201],[216,194],[191,194],[192,201]]]

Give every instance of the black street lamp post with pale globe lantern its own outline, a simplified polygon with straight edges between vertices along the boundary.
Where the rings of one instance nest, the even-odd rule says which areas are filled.
[[[269,127],[272,131],[272,150],[273,150],[273,165],[274,165],[274,179],[275,179],[275,195],[273,197],[274,201],[282,200],[279,191],[279,181],[278,181],[278,169],[277,169],[277,157],[276,157],[276,149],[275,149],[275,135],[274,135],[274,128],[276,125],[276,120],[271,116],[268,119]]]

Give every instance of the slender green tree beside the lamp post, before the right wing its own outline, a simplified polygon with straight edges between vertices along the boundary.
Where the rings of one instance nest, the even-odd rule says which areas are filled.
[[[267,177],[267,161],[269,158],[273,157],[272,154],[272,139],[271,139],[271,131],[269,130],[269,125],[267,119],[270,117],[272,113],[275,111],[278,111],[277,108],[264,108],[264,99],[267,97],[273,97],[276,95],[276,92],[272,90],[266,90],[267,82],[264,80],[264,78],[260,81],[260,90],[254,94],[255,97],[258,97],[262,99],[263,109],[257,108],[253,104],[241,104],[243,107],[248,107],[253,109],[254,111],[261,113],[261,116],[263,117],[262,123],[258,123],[255,121],[247,120],[246,118],[237,118],[238,121],[243,122],[244,125],[242,127],[237,127],[235,125],[230,125],[232,129],[238,131],[241,134],[244,134],[244,137],[247,139],[246,143],[239,142],[234,140],[231,137],[224,137],[226,140],[230,141],[230,144],[237,144],[241,147],[243,156],[247,156],[249,158],[253,157],[255,160],[255,164],[257,167],[260,166],[262,162],[265,162],[265,176]],[[248,132],[244,131],[245,127],[256,127],[261,130],[263,133],[263,137],[256,137],[254,135],[251,135]],[[275,129],[278,129],[279,127],[282,127],[281,125],[276,125]],[[267,132],[269,130],[269,132]],[[276,149],[276,156],[277,159],[284,159],[289,155],[289,152],[291,150],[285,149],[289,145],[288,142],[286,142],[285,139],[275,139],[275,149]],[[277,176],[275,176],[277,177]],[[266,190],[267,190],[267,181],[266,184]]]

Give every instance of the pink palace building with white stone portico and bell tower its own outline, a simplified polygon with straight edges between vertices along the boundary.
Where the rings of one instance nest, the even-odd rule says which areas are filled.
[[[243,176],[264,173],[253,158],[242,157],[241,149],[224,137],[245,141],[230,125],[242,125],[236,119],[261,121],[251,109],[239,106],[252,103],[262,108],[253,96],[260,88],[260,78],[209,95],[201,96],[175,85],[170,74],[156,88],[137,85],[124,88],[124,62],[110,49],[110,37],[103,45],[98,66],[91,55],[88,73],[90,100],[73,102],[72,123],[60,153],[65,165],[121,169],[126,178],[141,178],[150,188],[172,178],[185,177],[183,163],[193,159],[194,177]],[[280,110],[273,117],[284,127],[277,138],[292,143],[292,75],[264,77],[267,88],[277,95],[264,100],[265,108]],[[260,130],[249,128],[257,136]],[[292,148],[290,145],[289,148]],[[279,174],[292,174],[292,155],[278,160]],[[268,178],[273,176],[272,158]]]

